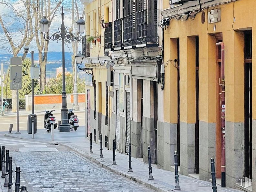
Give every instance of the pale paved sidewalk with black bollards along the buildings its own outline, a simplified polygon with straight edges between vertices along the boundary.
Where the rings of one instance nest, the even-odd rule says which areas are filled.
[[[7,128],[6,128],[7,129]],[[46,133],[45,129],[37,129],[35,139],[32,139],[31,134],[26,131],[21,131],[21,134],[5,134],[5,136],[29,139],[33,141],[47,142],[51,144],[65,145],[72,148],[80,155],[96,162],[100,166],[107,168],[119,175],[135,180],[138,183],[154,189],[158,192],[174,191],[175,177],[174,172],[166,171],[156,167],[152,167],[154,180],[148,180],[148,164],[141,162],[137,158],[132,157],[132,170],[128,172],[128,156],[116,152],[116,166],[112,165],[113,151],[103,147],[103,156],[100,158],[100,146],[93,143],[93,154],[90,154],[90,141],[85,138],[85,126],[78,127],[77,131],[60,133],[59,130],[54,130],[54,141],[51,141],[51,133]],[[209,160],[210,163],[210,160]],[[181,192],[211,192],[212,184],[207,181],[194,179],[191,177],[179,175],[179,185]],[[238,192],[239,190],[232,188],[221,188],[219,185],[218,192]]]

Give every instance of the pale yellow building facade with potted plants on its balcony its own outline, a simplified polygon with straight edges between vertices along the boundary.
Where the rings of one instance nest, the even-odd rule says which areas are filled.
[[[88,72],[86,75],[86,131],[88,138],[92,133],[93,141],[96,143],[102,135],[103,143],[108,146],[111,116],[108,91],[111,87],[107,83],[106,64],[110,61],[110,57],[104,48],[105,28],[102,24],[111,22],[112,1],[85,0],[81,3],[85,9],[86,34],[83,40],[83,62]]]

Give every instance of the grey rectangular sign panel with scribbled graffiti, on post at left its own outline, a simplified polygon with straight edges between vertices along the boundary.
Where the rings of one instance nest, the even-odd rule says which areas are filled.
[[[18,90],[22,88],[21,66],[10,67],[10,86],[11,86],[11,90]]]

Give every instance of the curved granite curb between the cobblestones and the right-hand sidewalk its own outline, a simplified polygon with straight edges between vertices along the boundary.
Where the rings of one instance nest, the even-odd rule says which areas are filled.
[[[144,185],[145,187],[148,187],[150,189],[153,189],[157,192],[168,192],[168,191],[174,191],[172,189],[166,188],[165,186],[161,186],[158,183],[155,183],[154,181],[149,181],[146,179],[143,179],[141,177],[135,176],[132,173],[128,173],[127,171],[120,170],[119,168],[114,167],[113,165],[109,165],[109,163],[105,162],[103,159],[95,158],[93,156],[90,156],[88,153],[78,149],[77,147],[74,147],[72,145],[63,144],[63,143],[55,143],[58,145],[63,145],[65,147],[68,147],[72,149],[73,151],[77,152],[79,155],[86,157],[87,159],[91,160],[92,162],[97,163],[99,166],[104,167],[118,175],[127,177],[128,179],[131,179],[133,181],[136,181],[137,183]]]

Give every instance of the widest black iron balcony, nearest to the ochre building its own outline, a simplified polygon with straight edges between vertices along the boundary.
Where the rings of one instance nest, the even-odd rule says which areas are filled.
[[[157,9],[144,9],[136,13],[136,47],[158,46]]]

